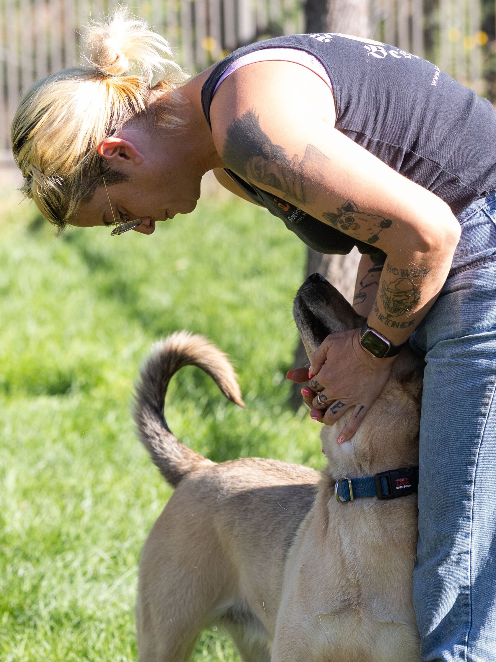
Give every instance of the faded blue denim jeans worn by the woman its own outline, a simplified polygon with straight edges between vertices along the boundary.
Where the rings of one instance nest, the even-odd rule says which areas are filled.
[[[426,359],[413,596],[423,660],[496,662],[496,191],[459,220],[410,339]]]

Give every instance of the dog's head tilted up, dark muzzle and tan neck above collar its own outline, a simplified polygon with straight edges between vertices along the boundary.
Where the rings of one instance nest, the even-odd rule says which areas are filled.
[[[309,358],[328,334],[360,328],[364,323],[364,318],[319,273],[301,285],[293,314]],[[353,408],[334,425],[323,426],[322,448],[332,477],[355,478],[417,465],[423,369],[421,357],[405,347],[381,395],[349,442],[338,444],[337,439]]]

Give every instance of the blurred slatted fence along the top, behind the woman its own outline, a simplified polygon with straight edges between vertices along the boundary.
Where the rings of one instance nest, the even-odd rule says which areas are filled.
[[[9,160],[9,123],[36,78],[81,62],[88,19],[117,0],[0,0],[0,159]],[[242,44],[302,32],[299,0],[129,0],[201,70]],[[491,101],[496,97],[496,0],[370,0],[375,38],[426,57]]]

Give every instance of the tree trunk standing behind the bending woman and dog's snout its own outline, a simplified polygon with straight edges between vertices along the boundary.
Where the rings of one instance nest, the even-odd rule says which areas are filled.
[[[342,32],[368,37],[370,34],[369,0],[307,0],[305,3],[305,32]],[[360,254],[354,248],[349,255],[322,255],[308,249],[307,276],[319,271],[352,303],[356,271]],[[296,348],[294,367],[307,363],[301,340]],[[301,385],[293,384],[291,404],[301,405]]]

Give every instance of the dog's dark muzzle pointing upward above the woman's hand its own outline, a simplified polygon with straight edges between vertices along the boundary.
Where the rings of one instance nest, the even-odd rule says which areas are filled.
[[[297,291],[293,316],[309,356],[329,334],[360,328],[365,321],[320,273]]]

